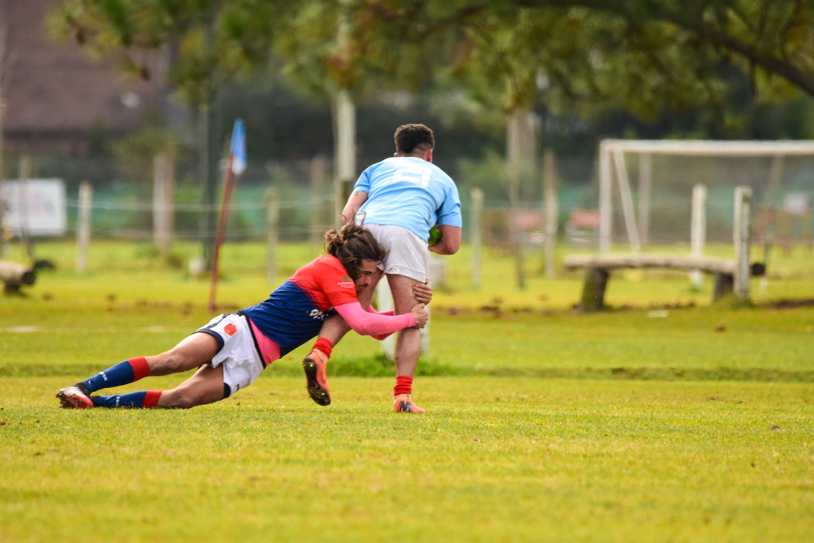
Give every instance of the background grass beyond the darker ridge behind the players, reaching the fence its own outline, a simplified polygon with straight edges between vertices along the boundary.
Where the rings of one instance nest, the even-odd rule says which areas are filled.
[[[205,280],[160,266],[147,245],[98,242],[92,247],[90,272],[77,275],[70,269],[72,244],[42,243],[38,253],[53,258],[58,270],[42,273],[28,297],[0,297],[0,375],[102,369],[160,353],[208,322]],[[194,247],[176,250],[191,254]],[[10,253],[20,256],[19,247]],[[311,256],[313,250],[304,245],[283,245],[280,268],[293,271]],[[814,293],[808,276],[814,266],[806,255],[783,260],[778,253],[776,259],[786,278],[772,279],[766,300]],[[225,246],[226,275],[218,291],[224,310],[265,299],[272,286],[262,266],[260,244]],[[449,260],[448,287],[438,288],[431,304],[431,357],[424,365],[429,373],[676,379],[684,372],[689,379],[753,379],[758,374],[752,370],[758,369],[786,372],[775,374],[777,379],[812,380],[814,308],[708,306],[708,296],[689,292],[685,274],[654,272],[620,274],[611,281],[609,298],[639,309],[583,315],[570,309],[581,288],[578,274],[554,280],[532,276],[527,289],[518,291],[507,278],[510,270],[510,259],[494,253],[484,263],[484,288],[475,291],[467,282],[466,254]],[[786,296],[798,283],[805,287]],[[650,304],[676,299],[695,300],[698,306],[671,309],[666,318],[649,316]],[[499,310],[482,310],[484,304]],[[719,324],[726,331],[714,331]],[[299,372],[304,348],[269,373]],[[344,363],[334,371],[383,374],[374,361],[379,350],[373,339],[348,334],[335,350],[336,360]],[[634,371],[612,373],[619,368]]]

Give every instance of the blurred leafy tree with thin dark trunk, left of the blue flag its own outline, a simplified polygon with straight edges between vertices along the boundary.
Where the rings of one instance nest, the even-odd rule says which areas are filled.
[[[67,0],[47,20],[51,33],[98,57],[113,57],[129,74],[149,79],[144,50],[172,50],[168,81],[197,113],[199,177],[204,187],[201,237],[212,258],[220,142],[212,104],[223,85],[269,58],[268,36],[285,19],[287,2],[269,0]]]

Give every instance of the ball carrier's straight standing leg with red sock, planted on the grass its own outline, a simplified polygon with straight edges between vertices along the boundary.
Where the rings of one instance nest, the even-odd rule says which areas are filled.
[[[393,293],[396,315],[409,313],[415,306],[413,288],[418,284],[414,278],[405,275],[388,274],[387,282]],[[410,398],[413,377],[421,354],[421,332],[418,328],[405,328],[398,332],[396,339],[396,388],[393,389],[393,403],[396,412],[424,413]]]

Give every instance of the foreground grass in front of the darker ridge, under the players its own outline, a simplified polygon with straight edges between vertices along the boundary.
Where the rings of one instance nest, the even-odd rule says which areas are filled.
[[[63,383],[3,381],[3,541],[806,541],[814,528],[810,384],[426,378],[429,413],[405,416],[388,411],[390,379],[335,379],[329,408],[301,379],[260,379],[190,411],[62,411]]]

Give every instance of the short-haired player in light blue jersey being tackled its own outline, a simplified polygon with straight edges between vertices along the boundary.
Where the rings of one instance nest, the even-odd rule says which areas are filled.
[[[409,313],[415,305],[413,289],[427,282],[429,253],[453,255],[461,246],[461,199],[457,186],[442,169],[432,164],[435,137],[425,125],[402,125],[396,130],[396,154],[373,164],[359,177],[342,212],[346,223],[357,221],[370,230],[387,256],[379,270],[387,274],[395,313]],[[430,230],[436,226],[441,239],[427,246]],[[362,305],[373,297],[381,273],[373,278],[370,290],[360,294]],[[336,344],[349,330],[341,317],[332,317],[322,326],[320,337]],[[396,340],[396,412],[424,413],[410,394],[421,353],[418,329],[399,332]]]

